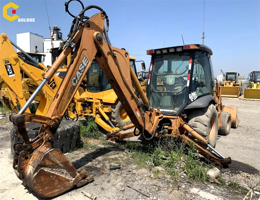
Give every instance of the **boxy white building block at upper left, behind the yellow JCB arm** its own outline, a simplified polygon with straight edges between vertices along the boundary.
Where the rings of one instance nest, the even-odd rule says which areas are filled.
[[[25,52],[42,53],[43,52],[43,36],[34,33],[16,34],[16,44]],[[19,50],[17,49],[17,52]]]

